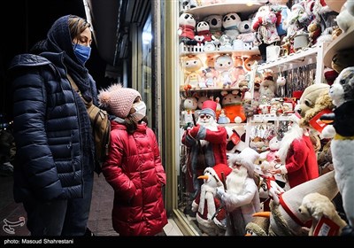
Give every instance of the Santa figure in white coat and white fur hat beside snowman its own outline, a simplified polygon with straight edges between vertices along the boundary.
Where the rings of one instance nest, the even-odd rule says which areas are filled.
[[[226,236],[244,236],[252,214],[260,210],[258,185],[254,180],[254,162],[258,157],[257,151],[246,147],[228,158],[232,172],[227,176],[227,189],[217,189],[228,213]]]

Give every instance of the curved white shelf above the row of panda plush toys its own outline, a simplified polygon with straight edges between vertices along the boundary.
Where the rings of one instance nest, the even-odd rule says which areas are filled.
[[[195,16],[196,19],[204,19],[204,17],[207,17],[208,15],[212,14],[220,14],[220,15],[226,15],[227,13],[231,12],[236,12],[236,13],[242,13],[244,15],[249,15],[252,12],[257,12],[259,7],[262,6],[262,2],[266,1],[237,1],[237,3],[229,3],[231,1],[228,1],[227,4],[211,4],[211,5],[205,5],[201,7],[196,7],[189,9],[185,12],[191,13]]]

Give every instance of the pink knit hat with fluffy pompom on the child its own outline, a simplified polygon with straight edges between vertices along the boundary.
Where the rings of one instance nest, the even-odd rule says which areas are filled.
[[[120,83],[102,89],[98,94],[99,104],[120,118],[126,118],[136,97],[141,97],[135,89],[123,88]]]

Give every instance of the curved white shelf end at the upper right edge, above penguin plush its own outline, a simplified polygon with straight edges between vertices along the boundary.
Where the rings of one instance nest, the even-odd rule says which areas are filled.
[[[339,35],[332,43],[329,43],[323,57],[325,66],[332,68],[332,58],[340,50],[354,48],[354,25],[345,33]]]

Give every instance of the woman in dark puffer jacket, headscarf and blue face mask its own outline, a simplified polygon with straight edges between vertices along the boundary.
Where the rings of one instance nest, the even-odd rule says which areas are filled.
[[[87,229],[95,167],[84,101],[96,100],[85,67],[92,42],[85,19],[57,19],[47,39],[13,58],[13,128],[17,153],[14,198],[27,212],[32,236],[82,236]]]

